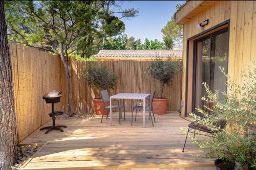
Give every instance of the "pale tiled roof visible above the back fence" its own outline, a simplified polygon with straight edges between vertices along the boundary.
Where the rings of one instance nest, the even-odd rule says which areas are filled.
[[[182,50],[100,50],[97,58],[182,58]]]

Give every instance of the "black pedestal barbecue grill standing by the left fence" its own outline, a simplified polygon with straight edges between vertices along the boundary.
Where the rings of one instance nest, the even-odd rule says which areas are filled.
[[[56,129],[56,130],[59,130],[59,131],[63,132],[63,130],[61,128],[67,128],[67,126],[64,126],[64,125],[55,125],[55,116],[63,114],[63,112],[61,112],[61,111],[54,111],[54,104],[60,102],[60,98],[62,97],[61,93],[62,92],[58,92],[57,90],[53,90],[53,91],[50,91],[50,92],[46,93],[42,97],[42,99],[44,99],[46,101],[46,103],[51,103],[52,104],[52,112],[49,113],[49,116],[52,117],[52,126],[48,126],[48,127],[44,127],[44,128],[40,129],[40,130],[47,129],[46,134],[50,130]]]

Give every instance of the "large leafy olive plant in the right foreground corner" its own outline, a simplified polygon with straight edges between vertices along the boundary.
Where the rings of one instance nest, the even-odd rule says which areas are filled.
[[[222,72],[225,74],[223,69]],[[227,74],[225,76],[228,92],[212,92],[203,83],[207,95],[202,100],[212,105],[197,108],[203,118],[190,114],[194,122],[218,133],[203,141],[197,136],[189,137],[208,151],[204,157],[218,158],[215,165],[219,170],[256,169],[256,68],[249,74],[244,72],[240,85],[231,81]],[[214,112],[214,116],[209,111]],[[214,124],[220,119],[225,119],[227,127],[232,128],[220,130]]]

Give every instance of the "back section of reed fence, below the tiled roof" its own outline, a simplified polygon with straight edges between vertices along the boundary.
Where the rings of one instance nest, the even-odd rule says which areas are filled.
[[[150,61],[135,61],[135,60],[120,60],[120,61],[97,61],[97,62],[82,62],[74,61],[70,58],[72,68],[72,84],[73,84],[73,104],[76,113],[93,113],[93,98],[99,98],[99,89],[95,86],[90,86],[82,76],[83,70],[91,63],[94,65],[104,65],[117,75],[115,89],[110,91],[110,95],[127,92],[127,93],[151,93],[156,90],[158,94],[159,81],[152,79],[145,72],[145,68]],[[60,69],[63,71],[63,69]],[[65,76],[63,72],[61,76]],[[65,78],[60,79],[67,84]],[[168,110],[179,110],[181,101],[182,88],[181,74],[175,75],[174,80],[164,87],[163,97],[169,99]],[[67,86],[66,86],[67,87]],[[67,88],[66,88],[67,89]],[[63,99],[61,108],[68,111],[68,95],[67,90],[63,91]],[[131,111],[132,101],[125,101],[126,111]]]

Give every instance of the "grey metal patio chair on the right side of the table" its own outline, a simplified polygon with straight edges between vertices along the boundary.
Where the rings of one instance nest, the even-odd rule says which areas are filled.
[[[154,123],[153,123],[153,119],[152,119],[152,115],[151,115],[151,112],[153,113],[153,117],[154,117],[154,122],[156,123],[156,119],[155,119],[155,114],[153,112],[153,106],[152,106],[152,102],[153,102],[153,99],[154,99],[154,96],[155,96],[155,93],[156,91],[153,91],[150,95],[150,100],[146,103],[148,103],[148,106],[145,107],[145,111],[148,111],[148,118],[151,119],[151,122],[152,122],[152,126],[154,126]],[[134,101],[136,102],[136,106],[133,107],[132,109],[132,126],[133,126],[133,111],[135,110],[135,122],[136,122],[136,118],[137,118],[137,110],[143,110],[143,106],[138,106],[138,102],[142,102],[142,101]]]

